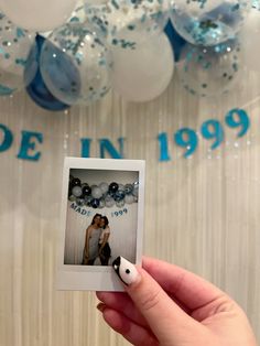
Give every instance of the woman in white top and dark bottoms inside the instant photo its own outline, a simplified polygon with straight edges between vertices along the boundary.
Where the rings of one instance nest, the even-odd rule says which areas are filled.
[[[109,258],[111,257],[111,249],[108,242],[110,237],[110,227],[107,216],[102,216],[100,219],[101,235],[99,238],[99,258],[102,266],[108,266]]]

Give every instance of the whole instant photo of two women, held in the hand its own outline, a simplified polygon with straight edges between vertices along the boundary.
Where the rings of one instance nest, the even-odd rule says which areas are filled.
[[[58,290],[123,291],[111,264],[141,264],[144,170],[141,160],[65,159]]]

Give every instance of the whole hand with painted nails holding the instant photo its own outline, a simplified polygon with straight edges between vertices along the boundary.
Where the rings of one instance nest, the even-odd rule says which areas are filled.
[[[98,292],[97,307],[133,345],[257,346],[242,310],[209,282],[151,258],[142,269],[131,266],[122,259],[117,270],[126,293]]]

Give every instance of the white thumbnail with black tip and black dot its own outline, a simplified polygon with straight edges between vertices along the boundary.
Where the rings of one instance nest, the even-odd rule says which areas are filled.
[[[137,268],[121,256],[112,262],[112,268],[126,285],[136,283],[140,280],[140,274]]]

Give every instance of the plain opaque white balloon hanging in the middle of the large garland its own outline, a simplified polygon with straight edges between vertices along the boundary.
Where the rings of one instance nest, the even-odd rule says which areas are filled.
[[[134,50],[113,47],[112,56],[113,89],[129,101],[156,98],[172,79],[174,57],[164,33],[147,36],[145,43],[139,43]]]

